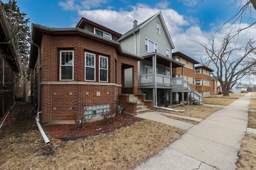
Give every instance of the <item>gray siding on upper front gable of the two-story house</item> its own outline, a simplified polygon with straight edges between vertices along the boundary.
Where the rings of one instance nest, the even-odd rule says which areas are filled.
[[[160,23],[160,34],[156,33],[156,22]],[[157,43],[159,54],[166,56],[167,48],[170,50],[171,56],[172,47],[168,41],[168,35],[166,35],[166,32],[164,31],[164,27],[159,16],[151,20],[147,25],[140,29],[140,55],[148,54],[148,52],[145,51],[145,38]]]

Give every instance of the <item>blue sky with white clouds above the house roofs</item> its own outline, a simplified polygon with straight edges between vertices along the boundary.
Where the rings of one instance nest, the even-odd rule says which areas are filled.
[[[132,29],[134,20],[140,24],[161,11],[174,42],[175,49],[172,52],[180,51],[200,62],[205,51],[198,42],[207,43],[209,35],[230,19],[239,7],[239,3],[230,5],[234,0],[204,0],[202,5],[196,7],[200,1],[17,0],[17,5],[21,12],[27,14],[31,23],[51,27],[75,27],[84,17],[122,34]],[[7,3],[8,0],[2,2]],[[238,2],[243,4],[247,0]],[[254,9],[251,16],[255,21]],[[252,21],[243,21],[243,24],[248,25],[247,22]],[[246,34],[255,36],[255,32],[254,27],[254,30],[246,31]]]

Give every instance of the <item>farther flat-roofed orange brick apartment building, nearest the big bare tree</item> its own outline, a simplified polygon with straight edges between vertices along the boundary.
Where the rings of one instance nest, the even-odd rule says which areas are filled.
[[[196,91],[204,97],[211,96],[211,76],[210,72],[214,70],[206,66],[195,66],[196,69]]]

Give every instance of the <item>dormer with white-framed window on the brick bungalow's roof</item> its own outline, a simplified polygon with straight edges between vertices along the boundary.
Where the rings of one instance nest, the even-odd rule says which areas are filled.
[[[86,18],[81,18],[76,27],[114,41],[122,36],[122,34]]]

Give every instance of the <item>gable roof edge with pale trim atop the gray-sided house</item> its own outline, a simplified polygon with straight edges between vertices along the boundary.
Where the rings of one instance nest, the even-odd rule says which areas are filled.
[[[170,42],[170,45],[171,45],[172,49],[174,49],[174,44],[173,44],[173,42],[172,42],[172,38],[171,38],[170,33],[169,33],[168,29],[167,29],[167,26],[166,26],[166,24],[165,24],[165,21],[164,21],[164,18],[163,18],[163,16],[162,16],[162,12],[161,12],[161,11],[158,12],[157,14],[155,14],[154,16],[148,18],[147,20],[143,21],[142,23],[140,23],[140,24],[137,25],[136,27],[130,29],[130,30],[127,31],[126,33],[124,33],[124,34],[122,35],[122,37],[120,37],[120,39],[118,39],[117,41],[120,41],[120,40],[124,39],[125,37],[131,35],[133,32],[140,30],[142,27],[144,27],[145,25],[147,25],[148,22],[150,22],[151,20],[153,20],[153,19],[156,18],[157,16],[159,16],[159,18],[160,18],[160,20],[161,20],[161,22],[162,22],[162,24],[163,24],[163,27],[164,27],[164,32],[166,33],[166,35],[167,35],[167,37],[168,37],[168,41]]]

